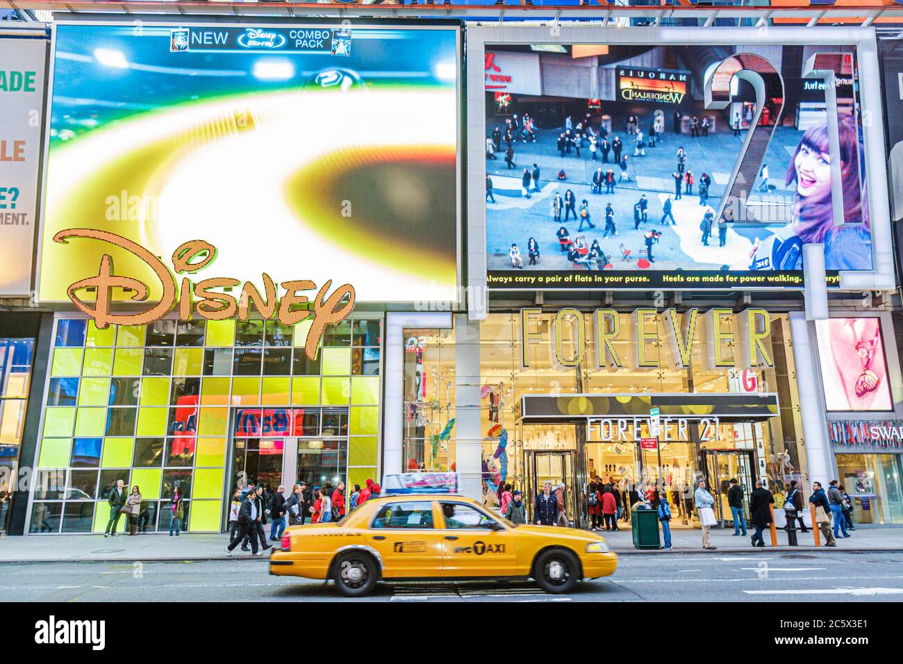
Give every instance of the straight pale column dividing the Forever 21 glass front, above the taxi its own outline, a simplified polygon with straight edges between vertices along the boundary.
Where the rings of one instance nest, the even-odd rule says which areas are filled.
[[[482,431],[479,426],[479,321],[455,315],[455,468],[461,493],[482,498]]]

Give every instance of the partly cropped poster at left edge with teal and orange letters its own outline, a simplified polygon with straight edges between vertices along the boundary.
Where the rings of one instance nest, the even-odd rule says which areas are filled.
[[[0,295],[32,290],[46,61],[45,40],[0,38]]]

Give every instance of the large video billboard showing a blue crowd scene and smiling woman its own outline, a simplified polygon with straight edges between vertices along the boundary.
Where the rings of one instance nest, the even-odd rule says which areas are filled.
[[[806,243],[829,286],[872,269],[853,47],[557,49],[486,45],[490,288],[800,288]]]

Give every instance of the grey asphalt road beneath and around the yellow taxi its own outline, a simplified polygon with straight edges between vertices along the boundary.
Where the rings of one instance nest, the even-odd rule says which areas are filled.
[[[5,601],[341,601],[333,585],[270,576],[265,560],[3,563]],[[530,582],[378,585],[355,600],[416,602],[901,602],[898,553],[620,556],[618,572],[549,595]]]

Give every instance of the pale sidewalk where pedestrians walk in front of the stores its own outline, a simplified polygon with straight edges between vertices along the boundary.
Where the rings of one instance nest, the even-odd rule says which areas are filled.
[[[643,554],[655,556],[660,550],[640,550],[633,547],[629,524],[619,532],[605,533],[611,549],[619,554]],[[751,531],[750,531],[751,535]],[[778,549],[782,552],[815,550],[812,532],[798,533],[799,547],[787,547],[787,534],[777,531]],[[674,548],[667,553],[751,553],[765,549],[750,546],[748,537],[733,537],[731,528],[712,528],[712,544],[717,551],[705,551],[699,529],[672,530]],[[768,531],[766,543],[770,543]],[[178,560],[267,560],[268,556],[252,558],[251,554],[236,548],[234,556],[227,558],[225,547],[228,534],[181,535],[178,538],[162,534],[144,534],[136,537],[120,535],[103,538],[99,535],[28,536],[0,538],[0,563],[14,562],[109,562],[109,561],[178,561]],[[275,543],[278,547],[278,543]],[[824,542],[823,542],[824,544]],[[774,550],[774,549],[772,549]],[[903,552],[903,527],[856,528],[849,539],[839,539],[837,547],[825,549],[840,551],[901,551]]]

